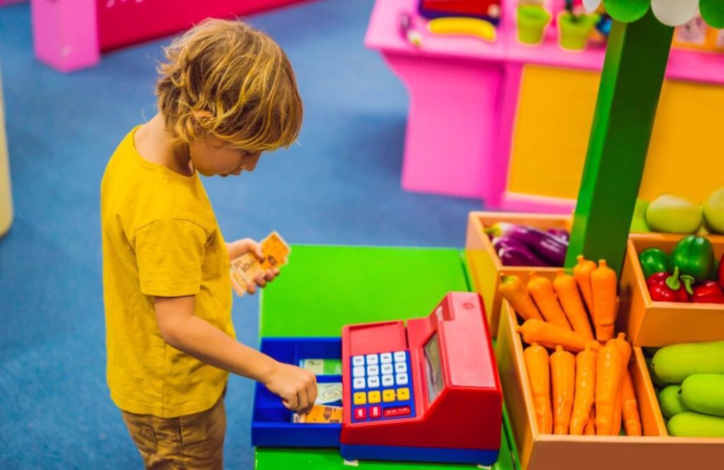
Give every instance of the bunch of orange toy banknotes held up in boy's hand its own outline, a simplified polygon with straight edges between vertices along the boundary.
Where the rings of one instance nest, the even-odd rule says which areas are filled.
[[[254,253],[244,253],[231,261],[231,283],[240,297],[257,277],[264,276],[267,269],[287,264],[292,249],[277,232],[271,232],[261,240],[261,252],[264,253],[264,261],[259,261]]]

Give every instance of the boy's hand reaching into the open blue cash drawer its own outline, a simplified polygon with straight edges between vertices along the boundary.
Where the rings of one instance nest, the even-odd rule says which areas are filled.
[[[284,406],[299,414],[307,413],[316,400],[316,377],[300,367],[277,362],[262,382],[282,398]]]

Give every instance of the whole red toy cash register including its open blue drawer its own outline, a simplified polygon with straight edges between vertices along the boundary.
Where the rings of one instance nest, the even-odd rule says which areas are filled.
[[[342,376],[331,367],[315,373],[320,387],[342,382],[342,422],[295,419],[257,383],[253,445],[340,446],[348,460],[497,461],[502,393],[476,293],[448,293],[432,314],[406,327],[402,321],[349,325],[341,340],[264,337],[261,351],[300,366],[341,358]]]

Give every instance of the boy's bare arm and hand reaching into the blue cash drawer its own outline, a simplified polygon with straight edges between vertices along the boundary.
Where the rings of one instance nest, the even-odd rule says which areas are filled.
[[[316,400],[316,377],[249,348],[194,312],[194,296],[156,297],[156,321],[169,345],[211,366],[249,377],[282,398],[287,408],[308,411]]]

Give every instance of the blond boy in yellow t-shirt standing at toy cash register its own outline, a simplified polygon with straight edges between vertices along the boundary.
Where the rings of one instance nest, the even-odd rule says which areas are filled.
[[[317,390],[311,372],[235,340],[230,259],[263,254],[248,238],[224,243],[198,174],[252,172],[296,140],[302,104],[282,49],[242,22],[202,22],[166,57],[159,113],[101,183],[107,377],[146,468],[222,469],[229,372],[300,413]]]

